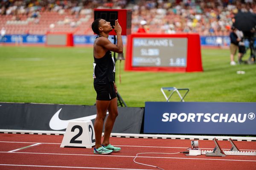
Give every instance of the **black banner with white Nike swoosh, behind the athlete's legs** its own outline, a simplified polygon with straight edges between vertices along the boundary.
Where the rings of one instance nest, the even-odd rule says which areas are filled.
[[[113,133],[140,133],[143,108],[118,107]],[[96,118],[96,106],[0,102],[0,129],[65,131],[69,121]]]

